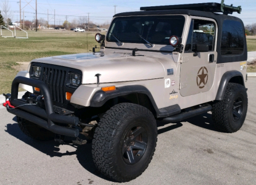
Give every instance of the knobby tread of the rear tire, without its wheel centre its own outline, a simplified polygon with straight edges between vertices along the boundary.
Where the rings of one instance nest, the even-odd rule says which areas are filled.
[[[225,133],[234,133],[239,130],[239,128],[234,129],[229,124],[229,110],[232,109],[231,106],[233,105],[230,101],[237,91],[241,91],[247,101],[247,93],[244,86],[237,83],[228,83],[223,100],[213,104],[212,106],[213,123],[218,130]],[[247,104],[244,109],[247,111]]]

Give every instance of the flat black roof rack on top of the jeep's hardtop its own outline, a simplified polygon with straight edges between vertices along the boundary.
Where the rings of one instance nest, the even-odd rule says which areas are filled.
[[[224,0],[221,0],[221,3],[217,2],[206,2],[206,3],[197,3],[197,4],[178,4],[178,5],[169,5],[169,6],[149,6],[141,7],[141,10],[175,10],[175,9],[188,9],[188,10],[199,10],[205,12],[223,12],[223,14],[233,14],[237,12],[241,14],[241,6],[234,7],[233,4],[228,6],[224,4]]]

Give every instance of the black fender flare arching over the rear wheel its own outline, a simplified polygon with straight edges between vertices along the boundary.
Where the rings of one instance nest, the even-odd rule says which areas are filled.
[[[226,72],[223,74],[223,76],[220,80],[220,84],[218,86],[218,92],[217,92],[215,100],[217,100],[217,101],[223,100],[224,94],[226,91],[226,86],[228,85],[229,80],[231,78],[233,78],[234,76],[241,76],[242,77],[242,85],[244,86],[244,76],[242,76],[241,72],[238,72],[236,70]]]

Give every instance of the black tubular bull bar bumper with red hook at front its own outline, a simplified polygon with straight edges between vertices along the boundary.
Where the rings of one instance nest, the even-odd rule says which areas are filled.
[[[27,102],[20,101],[18,99],[18,91],[19,91],[19,84],[27,84],[32,87],[39,88],[44,96],[44,104],[46,109],[42,109],[37,105],[29,105],[29,106],[20,106],[26,105]],[[71,137],[78,137],[80,131],[76,128],[70,128],[66,126],[59,126],[54,123],[62,123],[65,125],[78,125],[79,118],[78,117],[71,117],[67,115],[59,115],[54,112],[54,107],[52,103],[51,93],[47,84],[43,83],[39,80],[33,80],[31,78],[25,78],[23,76],[17,76],[12,81],[12,91],[10,95],[10,104],[17,107],[16,109],[12,109],[9,106],[7,107],[7,111],[17,115],[20,118],[25,120],[31,121],[52,133],[71,136]],[[20,107],[18,107],[20,106]]]

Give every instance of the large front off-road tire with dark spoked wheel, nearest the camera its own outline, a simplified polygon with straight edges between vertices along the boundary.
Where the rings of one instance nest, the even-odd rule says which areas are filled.
[[[127,133],[132,134],[128,136],[130,138],[139,137],[133,135],[134,128],[136,130],[143,128],[141,138],[144,135],[148,140],[144,153],[134,155],[137,159],[141,157],[138,162],[130,163],[130,158],[128,154],[125,158],[123,149],[128,149],[125,144]],[[154,115],[141,105],[117,104],[103,115],[97,125],[93,138],[93,160],[97,169],[109,178],[119,182],[131,181],[146,170],[154,155],[156,144],[157,125]],[[136,151],[131,150],[131,152]]]

